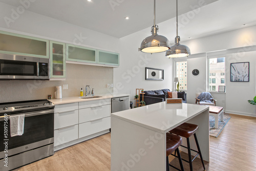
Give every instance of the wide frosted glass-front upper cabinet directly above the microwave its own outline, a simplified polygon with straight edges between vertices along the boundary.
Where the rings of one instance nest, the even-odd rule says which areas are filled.
[[[0,31],[0,53],[49,58],[49,40]]]

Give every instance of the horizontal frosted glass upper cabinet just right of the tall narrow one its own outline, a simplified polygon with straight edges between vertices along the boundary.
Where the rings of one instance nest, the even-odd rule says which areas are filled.
[[[67,44],[67,60],[96,63],[96,49]]]

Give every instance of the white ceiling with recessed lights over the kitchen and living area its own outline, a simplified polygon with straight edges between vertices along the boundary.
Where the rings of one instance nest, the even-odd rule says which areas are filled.
[[[0,2],[20,6],[16,0]],[[246,2],[246,3],[245,3]],[[202,4],[202,8],[196,9]],[[150,35],[154,1],[148,0],[37,0],[27,10],[117,38],[143,30]],[[184,40],[256,25],[255,0],[179,0],[179,35]],[[125,19],[129,16],[130,19]],[[156,1],[159,34],[176,36],[176,1]],[[246,24],[243,26],[243,24]]]

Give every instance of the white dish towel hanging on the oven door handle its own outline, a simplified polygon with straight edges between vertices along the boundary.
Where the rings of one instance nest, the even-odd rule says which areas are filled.
[[[23,135],[25,115],[10,116],[11,137]]]

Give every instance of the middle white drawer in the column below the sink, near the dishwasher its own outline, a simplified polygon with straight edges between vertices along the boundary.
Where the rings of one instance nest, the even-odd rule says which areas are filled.
[[[105,118],[111,115],[111,105],[100,105],[91,108],[79,109],[79,123]]]

